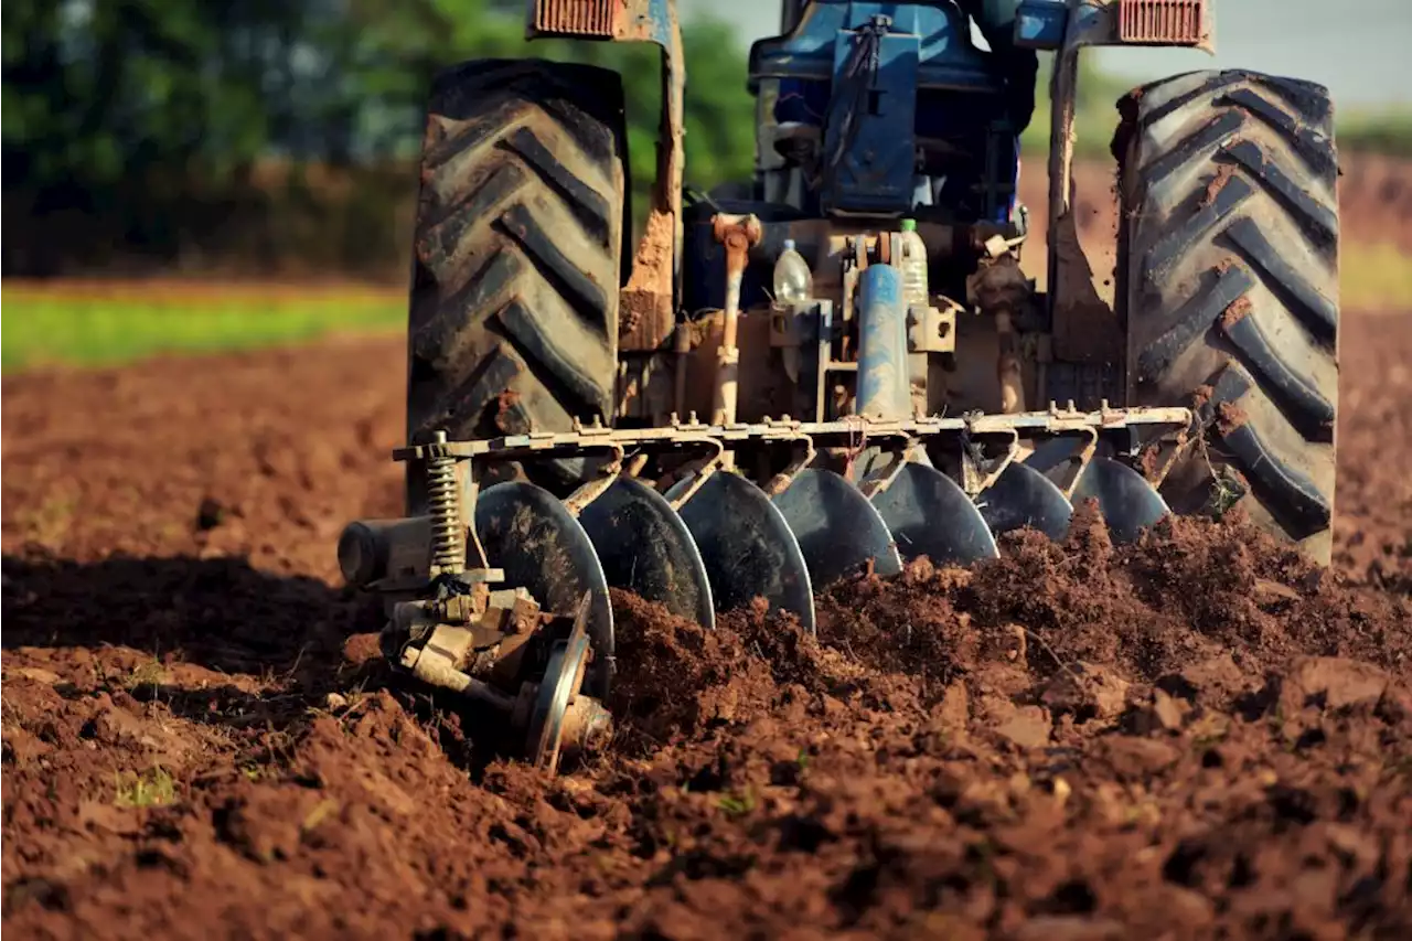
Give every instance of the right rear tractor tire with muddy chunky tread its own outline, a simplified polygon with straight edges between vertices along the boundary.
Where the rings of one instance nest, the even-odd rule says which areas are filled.
[[[1195,72],[1120,102],[1118,297],[1130,400],[1195,404],[1163,486],[1178,513],[1244,509],[1332,552],[1339,164],[1329,92]]]

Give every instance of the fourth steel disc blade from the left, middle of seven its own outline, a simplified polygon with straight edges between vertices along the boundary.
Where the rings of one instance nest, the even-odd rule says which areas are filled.
[[[882,514],[837,473],[806,468],[774,504],[799,540],[815,589],[868,562],[884,578],[902,571],[902,557]]]

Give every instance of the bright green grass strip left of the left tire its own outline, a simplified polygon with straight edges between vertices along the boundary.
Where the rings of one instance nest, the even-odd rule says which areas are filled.
[[[342,331],[401,329],[400,294],[335,290],[261,295],[219,287],[144,295],[0,285],[0,370],[102,366],[160,353],[212,353],[297,343]]]

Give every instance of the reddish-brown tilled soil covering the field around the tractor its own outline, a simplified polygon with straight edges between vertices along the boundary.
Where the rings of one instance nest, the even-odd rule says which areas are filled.
[[[0,937],[1412,937],[1408,324],[1346,324],[1337,572],[1083,520],[816,639],[620,598],[555,781],[336,586],[398,341],[0,380]]]

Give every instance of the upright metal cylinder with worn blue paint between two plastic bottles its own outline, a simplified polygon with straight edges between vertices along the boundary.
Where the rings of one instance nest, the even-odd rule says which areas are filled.
[[[858,404],[868,418],[912,414],[907,362],[907,304],[902,276],[891,264],[870,264],[858,277]]]

